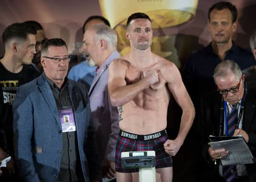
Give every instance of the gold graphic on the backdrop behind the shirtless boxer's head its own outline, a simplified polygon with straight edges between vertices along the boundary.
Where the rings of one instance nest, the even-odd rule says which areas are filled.
[[[154,32],[187,23],[195,17],[198,0],[99,0],[102,16],[107,18],[118,35],[117,49],[121,55],[130,50],[125,38],[127,18],[135,12],[144,12],[152,20]],[[162,31],[160,31],[162,32]],[[151,50],[180,67],[175,49],[176,35],[154,36]],[[176,54],[176,55],[175,55]]]

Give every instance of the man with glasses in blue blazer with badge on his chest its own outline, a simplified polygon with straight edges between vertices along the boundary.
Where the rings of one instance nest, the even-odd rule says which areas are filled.
[[[26,182],[102,179],[89,125],[89,97],[83,84],[67,79],[69,62],[62,39],[46,40],[41,48],[44,73],[17,91],[13,104],[15,156]]]

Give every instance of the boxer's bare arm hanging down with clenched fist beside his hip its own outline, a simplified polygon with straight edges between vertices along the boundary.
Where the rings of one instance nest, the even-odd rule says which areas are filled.
[[[183,144],[183,141],[192,126],[195,118],[195,108],[183,84],[180,72],[175,64],[171,62],[166,63],[166,66],[164,66],[163,69],[163,77],[166,79],[168,87],[171,90],[177,104],[179,104],[183,111],[180,121],[180,130],[177,138],[174,141],[169,140],[165,144],[165,146],[172,146],[171,148],[168,148],[169,152],[166,152],[171,155],[175,155],[180,146]]]

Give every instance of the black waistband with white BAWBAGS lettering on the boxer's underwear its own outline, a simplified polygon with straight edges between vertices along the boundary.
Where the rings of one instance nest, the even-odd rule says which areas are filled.
[[[147,141],[147,140],[154,140],[158,139],[162,136],[165,136],[167,134],[166,130],[162,130],[156,133],[148,134],[148,135],[137,135],[133,133],[128,133],[126,131],[120,130],[119,136],[128,138],[128,139],[133,139],[133,140],[139,140],[139,141]]]

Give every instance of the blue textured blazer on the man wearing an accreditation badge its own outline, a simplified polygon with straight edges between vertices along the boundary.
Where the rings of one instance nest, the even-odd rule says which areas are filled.
[[[90,171],[90,179],[101,180],[101,162],[93,130],[89,126],[87,90],[83,84],[72,80],[68,80],[67,87],[76,121],[76,139],[84,179],[89,182]],[[44,73],[19,87],[13,113],[15,157],[20,176],[26,182],[55,182],[61,163],[62,129],[55,98]]]

